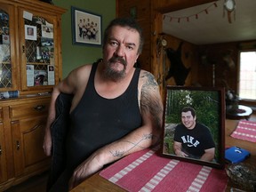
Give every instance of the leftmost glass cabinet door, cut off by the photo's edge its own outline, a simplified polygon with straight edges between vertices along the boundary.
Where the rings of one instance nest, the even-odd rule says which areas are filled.
[[[0,92],[16,88],[13,72],[15,63],[12,7],[2,4],[0,8]]]

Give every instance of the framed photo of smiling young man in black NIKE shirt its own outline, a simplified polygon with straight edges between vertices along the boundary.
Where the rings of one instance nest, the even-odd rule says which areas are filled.
[[[223,169],[224,88],[167,86],[160,155]]]

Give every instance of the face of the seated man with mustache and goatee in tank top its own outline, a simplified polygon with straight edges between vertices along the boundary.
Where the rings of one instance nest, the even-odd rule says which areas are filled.
[[[115,26],[108,34],[103,49],[103,61],[107,65],[105,75],[118,80],[124,78],[139,57],[140,35],[132,28]]]

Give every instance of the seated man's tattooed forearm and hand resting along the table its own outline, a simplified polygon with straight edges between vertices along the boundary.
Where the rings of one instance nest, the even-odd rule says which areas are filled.
[[[131,132],[121,140],[98,149],[92,156],[89,156],[80,164],[71,179],[70,188],[74,188],[78,183],[83,181],[95,172],[98,172],[105,164],[110,164],[123,156],[127,156],[132,152],[148,148],[158,135],[150,132],[149,127],[140,127]]]

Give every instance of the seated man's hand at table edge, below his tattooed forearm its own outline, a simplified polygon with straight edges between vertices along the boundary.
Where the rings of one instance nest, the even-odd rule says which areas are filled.
[[[72,178],[69,180],[69,190],[75,188],[93,173],[100,171],[102,167],[103,164],[100,164],[96,156],[92,154],[74,171]]]

